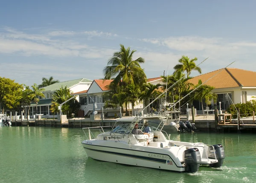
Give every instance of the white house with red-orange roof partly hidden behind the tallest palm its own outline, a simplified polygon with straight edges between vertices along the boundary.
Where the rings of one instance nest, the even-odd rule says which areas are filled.
[[[107,99],[104,98],[103,93],[108,92],[108,85],[113,80],[93,80],[92,84],[90,85],[87,92],[77,92],[73,93],[72,95],[79,95],[79,100],[84,101],[83,105],[81,105],[80,109],[84,110],[84,115],[88,115],[93,111],[93,101],[96,103],[96,111],[99,113],[102,113],[102,107],[105,106],[105,102]],[[157,84],[157,83],[163,83],[161,77],[154,77],[149,78],[148,83]],[[81,102],[80,102],[81,103]],[[128,106],[128,109],[131,109],[131,105]],[[134,106],[134,111],[138,111],[140,109],[143,109],[143,103],[139,103],[136,106]],[[108,113],[111,115],[117,115],[119,114],[119,108],[118,109],[104,109],[104,111],[107,110]],[[135,112],[134,112],[135,113]]]

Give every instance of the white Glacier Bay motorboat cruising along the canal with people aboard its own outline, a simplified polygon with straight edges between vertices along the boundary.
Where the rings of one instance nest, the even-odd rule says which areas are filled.
[[[143,117],[116,128],[108,126],[110,130],[106,130],[106,127],[83,128],[89,132],[87,140],[82,142],[87,156],[96,160],[177,172],[197,172],[199,166],[222,166],[225,154],[221,144],[170,140],[166,132],[152,126],[153,131],[149,135],[131,134],[135,124],[141,120]],[[99,131],[95,133],[94,130]]]

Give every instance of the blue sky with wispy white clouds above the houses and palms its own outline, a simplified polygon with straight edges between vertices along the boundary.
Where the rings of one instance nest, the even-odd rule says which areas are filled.
[[[256,71],[256,1],[9,0],[0,3],[0,77],[99,79],[119,44],[145,58],[147,77],[173,72],[182,55],[203,73]],[[192,72],[195,76],[198,73]]]

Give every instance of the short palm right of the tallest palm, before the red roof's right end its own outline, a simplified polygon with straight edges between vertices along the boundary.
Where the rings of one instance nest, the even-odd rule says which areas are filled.
[[[161,84],[153,85],[151,83],[145,83],[142,86],[141,93],[139,96],[140,101],[143,100],[143,103],[145,106],[147,106],[150,103],[150,99],[153,100],[153,98],[160,95],[160,92],[157,90]],[[148,112],[150,111],[150,106],[148,106]]]

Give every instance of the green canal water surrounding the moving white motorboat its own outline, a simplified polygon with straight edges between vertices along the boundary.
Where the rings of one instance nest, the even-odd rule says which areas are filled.
[[[88,158],[82,129],[0,127],[0,183],[247,183],[256,182],[255,134],[172,133],[173,140],[222,143],[219,169],[177,173]]]

